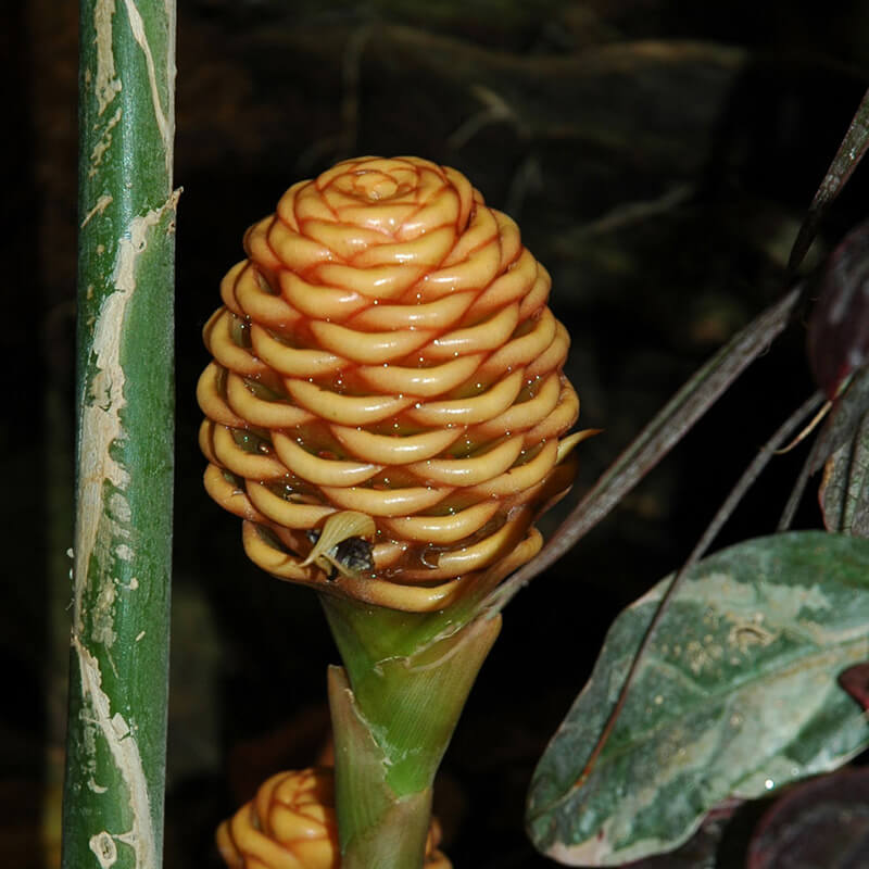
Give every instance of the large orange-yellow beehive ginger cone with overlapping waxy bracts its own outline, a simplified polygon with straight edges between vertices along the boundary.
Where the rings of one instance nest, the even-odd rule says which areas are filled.
[[[570,484],[567,331],[516,224],[455,169],[362,158],[244,239],[205,326],[205,486],[282,579],[406,610],[540,549]]]

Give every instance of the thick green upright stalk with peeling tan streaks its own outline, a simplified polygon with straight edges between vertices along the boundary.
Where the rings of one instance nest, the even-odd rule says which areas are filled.
[[[63,867],[162,862],[175,2],[81,0],[77,480]]]

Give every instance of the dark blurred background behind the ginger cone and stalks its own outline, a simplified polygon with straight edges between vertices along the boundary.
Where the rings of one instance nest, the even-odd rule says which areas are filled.
[[[869,77],[859,0],[180,0],[178,12],[167,869],[216,866],[214,826],[270,772],[316,758],[336,659],[314,596],[249,565],[238,521],[200,484],[200,330],[244,228],[290,184],[352,154],[415,153],[465,172],[553,275],[581,420],[606,429],[580,448],[581,493],[779,293],[799,219]],[[3,4],[0,16],[0,861],[29,869],[54,865],[65,716],[77,22],[74,4],[49,0]],[[866,197],[858,171],[809,266],[865,217]],[[797,324],[507,609],[438,786],[459,869],[549,865],[522,832],[533,765],[614,615],[678,566],[810,391],[804,343]],[[773,463],[728,541],[772,530],[799,458]],[[818,522],[808,499],[797,526]]]

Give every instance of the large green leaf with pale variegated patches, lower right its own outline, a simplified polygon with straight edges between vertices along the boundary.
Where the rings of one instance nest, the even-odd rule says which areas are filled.
[[[587,770],[669,582],[616,619],[536,770],[529,831],[562,862],[675,848],[727,797],[833,769],[869,743],[836,684],[869,658],[869,542],[803,531],[732,546],[685,576]]]

